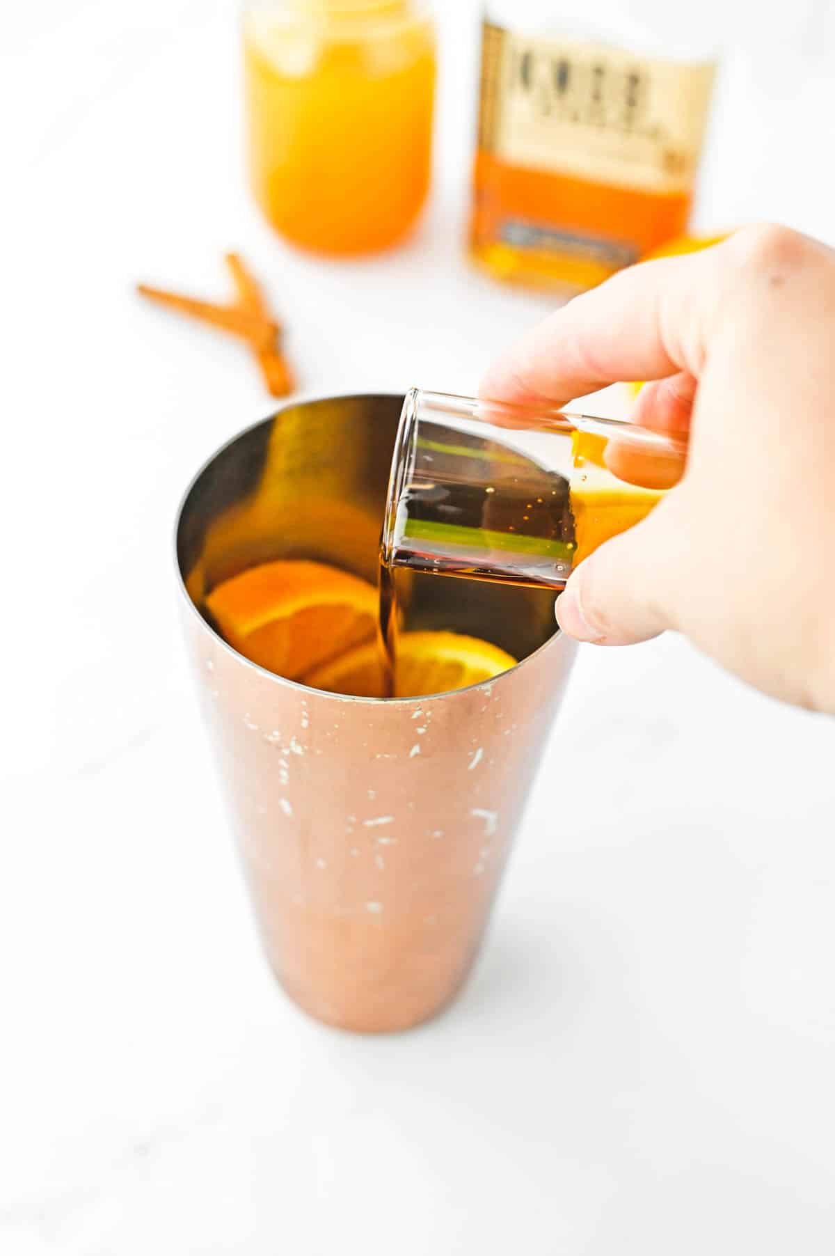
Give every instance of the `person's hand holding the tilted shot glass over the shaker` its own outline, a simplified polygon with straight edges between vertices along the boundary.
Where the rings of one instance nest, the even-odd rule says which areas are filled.
[[[835,712],[835,252],[746,227],[632,266],[540,323],[481,396],[564,406],[652,381],[632,418],[689,433],[679,484],[558,599],[622,646],[672,628],[776,697]]]

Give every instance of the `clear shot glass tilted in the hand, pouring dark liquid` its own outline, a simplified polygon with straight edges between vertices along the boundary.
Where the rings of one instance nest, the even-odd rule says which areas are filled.
[[[623,420],[413,388],[382,561],[560,590],[598,545],[649,514],[686,456],[686,440]]]

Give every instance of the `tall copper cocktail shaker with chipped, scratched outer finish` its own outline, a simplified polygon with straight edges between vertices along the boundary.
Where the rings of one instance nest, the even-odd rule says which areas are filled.
[[[407,627],[483,637],[517,666],[428,697],[349,697],[267,672],[215,631],[206,595],[256,563],[375,578],[402,404],[288,406],[210,458],[176,529],[186,639],[267,961],[306,1012],[357,1031],[427,1020],[465,982],[574,658],[547,590],[473,583],[462,598],[407,573]]]

